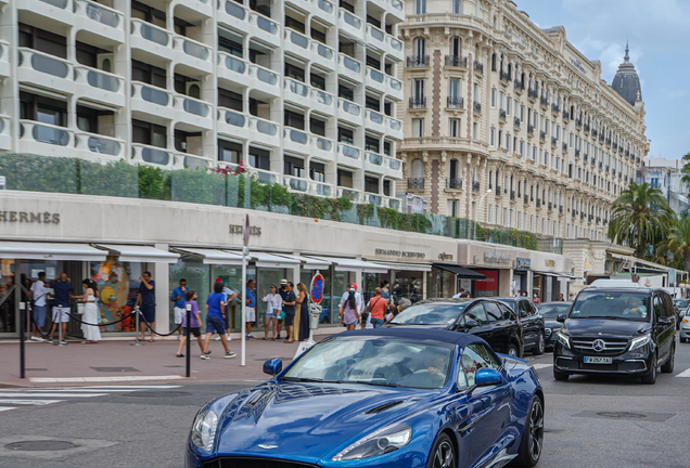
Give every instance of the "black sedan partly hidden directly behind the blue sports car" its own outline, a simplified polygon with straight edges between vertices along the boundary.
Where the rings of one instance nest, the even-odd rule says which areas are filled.
[[[396,315],[385,327],[434,326],[482,337],[494,351],[522,356],[523,340],[518,316],[491,299],[426,299]]]

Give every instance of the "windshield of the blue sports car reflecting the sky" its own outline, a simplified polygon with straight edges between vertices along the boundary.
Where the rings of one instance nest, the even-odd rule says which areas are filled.
[[[435,340],[334,338],[315,344],[282,380],[437,389],[448,380],[453,349]]]

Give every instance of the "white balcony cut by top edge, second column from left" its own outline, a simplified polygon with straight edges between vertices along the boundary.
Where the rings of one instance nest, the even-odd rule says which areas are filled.
[[[125,43],[125,15],[112,8],[90,0],[73,0],[74,23],[77,30],[117,43]]]

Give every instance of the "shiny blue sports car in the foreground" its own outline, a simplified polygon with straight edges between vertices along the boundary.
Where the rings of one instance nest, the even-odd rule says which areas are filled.
[[[273,377],[196,414],[186,466],[535,466],[544,392],[533,367],[483,339],[437,329],[342,333]]]

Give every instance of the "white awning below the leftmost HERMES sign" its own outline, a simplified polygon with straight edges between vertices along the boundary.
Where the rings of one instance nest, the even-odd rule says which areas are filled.
[[[18,260],[105,261],[107,253],[88,244],[0,243],[0,258]]]

